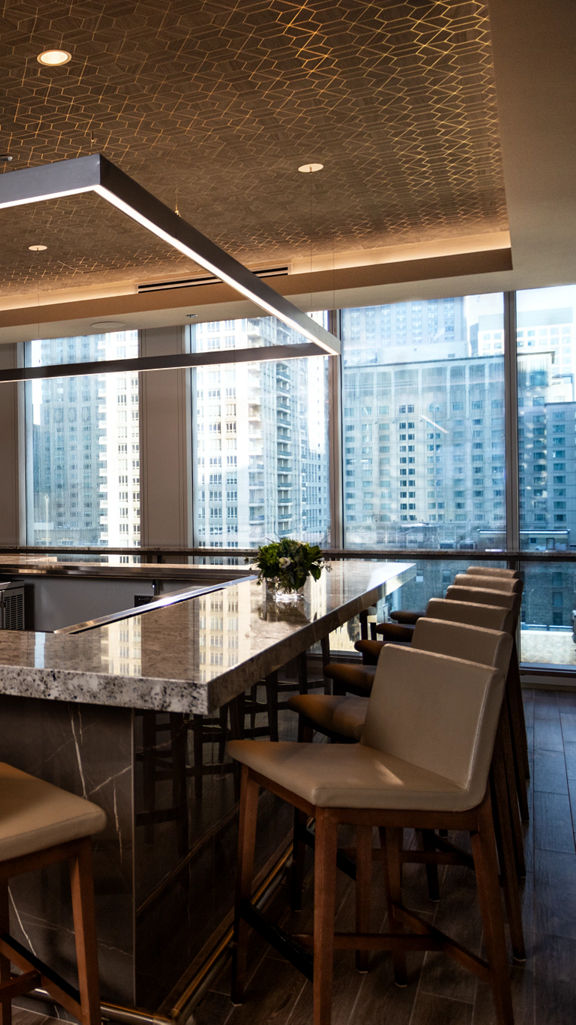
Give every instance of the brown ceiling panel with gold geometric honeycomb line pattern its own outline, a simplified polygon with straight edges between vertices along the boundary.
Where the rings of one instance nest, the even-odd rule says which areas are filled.
[[[4,173],[102,153],[252,268],[507,228],[485,2],[1,11]],[[71,63],[39,65],[48,47]],[[311,161],[324,171],[299,174]],[[95,200],[49,205],[0,211],[2,294],[191,275]],[[44,239],[41,260],[27,247]]]

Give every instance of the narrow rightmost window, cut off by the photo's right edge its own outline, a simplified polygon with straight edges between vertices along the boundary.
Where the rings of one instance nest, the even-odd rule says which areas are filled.
[[[576,286],[517,295],[520,547],[576,546]],[[560,561],[558,561],[560,559]],[[524,661],[574,663],[576,566],[523,564]]]

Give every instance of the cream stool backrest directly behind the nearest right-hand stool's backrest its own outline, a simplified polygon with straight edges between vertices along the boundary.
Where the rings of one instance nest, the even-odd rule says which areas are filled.
[[[503,672],[507,672],[512,637],[502,630],[421,616],[414,627],[412,647],[463,658],[468,662],[480,662],[481,665],[498,666]]]

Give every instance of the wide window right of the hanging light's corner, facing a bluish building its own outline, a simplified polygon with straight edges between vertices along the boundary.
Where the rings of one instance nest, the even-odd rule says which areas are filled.
[[[501,294],[342,312],[344,545],[447,554],[403,600],[505,547],[502,334]]]

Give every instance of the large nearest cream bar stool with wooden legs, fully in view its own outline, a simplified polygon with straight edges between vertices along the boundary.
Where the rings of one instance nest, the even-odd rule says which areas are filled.
[[[314,1025],[331,1018],[334,949],[386,949],[405,983],[408,949],[442,949],[489,982],[498,1025],[513,1015],[488,773],[504,687],[484,665],[386,646],[378,664],[362,741],[301,744],[233,741],[242,764],[233,999],[244,996],[249,927],[302,967],[305,953],[271,929],[251,900],[258,792],[264,787],[316,820],[315,911],[310,974]],[[357,830],[357,931],[334,934],[337,830]],[[372,830],[383,830],[388,934],[369,929]],[[486,959],[455,944],[401,902],[403,827],[469,831]],[[404,932],[404,927],[412,932]]]

